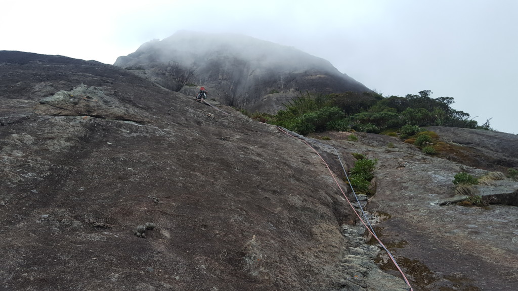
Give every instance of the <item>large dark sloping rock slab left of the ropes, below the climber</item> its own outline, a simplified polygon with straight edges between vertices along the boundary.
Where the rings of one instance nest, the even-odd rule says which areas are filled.
[[[0,289],[407,289],[299,140],[118,67],[0,60]]]

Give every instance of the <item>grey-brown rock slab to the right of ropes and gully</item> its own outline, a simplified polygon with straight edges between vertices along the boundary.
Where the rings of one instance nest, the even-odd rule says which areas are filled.
[[[441,128],[434,128],[441,129]],[[448,128],[465,135],[465,129]],[[437,130],[440,132],[440,130]],[[482,132],[492,138],[498,133]],[[513,290],[518,284],[518,208],[493,201],[487,207],[464,207],[454,201],[454,175],[467,171],[483,176],[487,170],[468,167],[439,156],[425,155],[397,138],[359,133],[358,142],[347,141],[347,133],[325,133],[333,143],[351,152],[378,159],[375,171],[376,195],[367,209],[384,216],[375,228],[407,273],[414,290]],[[515,137],[502,143],[514,147]],[[392,142],[394,147],[387,147]],[[460,148],[462,155],[476,147]],[[498,149],[495,149],[497,152]],[[496,155],[492,152],[491,155]],[[516,152],[507,153],[516,162]],[[487,158],[488,159],[488,158]],[[469,161],[470,164],[473,160]],[[485,167],[486,162],[481,164]],[[477,185],[477,194],[508,193],[516,196],[515,181],[493,181]],[[458,198],[458,197],[457,197]],[[461,199],[463,200],[463,199]],[[461,201],[458,200],[458,201]],[[442,204],[442,206],[441,206]],[[397,274],[388,256],[379,263]]]

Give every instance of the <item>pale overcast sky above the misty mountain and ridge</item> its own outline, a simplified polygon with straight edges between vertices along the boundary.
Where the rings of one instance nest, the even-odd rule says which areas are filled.
[[[383,96],[455,98],[518,134],[517,0],[9,1],[0,50],[113,64],[179,30],[239,33],[330,61]]]

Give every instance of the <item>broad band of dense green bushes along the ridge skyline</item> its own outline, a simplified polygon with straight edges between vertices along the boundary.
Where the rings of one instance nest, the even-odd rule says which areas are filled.
[[[276,90],[270,91],[274,93]],[[378,134],[387,128],[400,128],[401,138],[408,138],[421,131],[419,126],[491,129],[489,120],[479,126],[468,113],[453,109],[452,97],[434,99],[431,94],[429,90],[405,97],[383,97],[372,92],[307,93],[284,104],[286,109],[264,120],[299,134],[350,129]]]

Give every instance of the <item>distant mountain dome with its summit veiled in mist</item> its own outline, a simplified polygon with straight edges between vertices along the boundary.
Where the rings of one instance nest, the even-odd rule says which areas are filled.
[[[277,112],[300,92],[370,91],[319,57],[241,35],[182,31],[144,43],[114,65],[186,95],[195,94],[186,84],[203,85],[209,97],[250,111]]]

